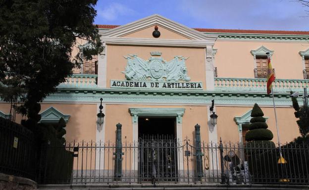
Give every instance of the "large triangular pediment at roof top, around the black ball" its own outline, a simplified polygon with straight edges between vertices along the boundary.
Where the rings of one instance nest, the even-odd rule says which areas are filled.
[[[161,36],[158,39],[211,40],[216,36],[203,34],[199,31],[176,23],[160,15],[152,15],[138,21],[100,32],[103,38],[154,38],[152,32],[158,26]]]

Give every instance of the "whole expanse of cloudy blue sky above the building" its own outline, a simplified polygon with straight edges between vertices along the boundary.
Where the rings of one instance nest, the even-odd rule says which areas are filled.
[[[124,25],[159,14],[190,28],[309,31],[297,0],[98,0],[95,24]]]

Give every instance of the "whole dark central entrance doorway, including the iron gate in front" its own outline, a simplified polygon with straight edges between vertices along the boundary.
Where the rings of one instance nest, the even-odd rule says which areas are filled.
[[[140,181],[177,181],[176,117],[139,117]]]

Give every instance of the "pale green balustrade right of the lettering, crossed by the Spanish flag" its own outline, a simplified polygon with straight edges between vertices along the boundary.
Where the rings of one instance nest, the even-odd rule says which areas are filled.
[[[214,78],[215,90],[226,91],[266,91],[266,78]],[[306,79],[275,79],[274,91],[287,92],[290,90],[303,90],[309,86]]]

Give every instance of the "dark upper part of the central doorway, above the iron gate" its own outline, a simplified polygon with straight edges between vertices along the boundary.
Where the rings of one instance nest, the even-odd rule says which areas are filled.
[[[143,136],[176,138],[175,117],[139,117],[138,124],[139,138],[143,138]]]

